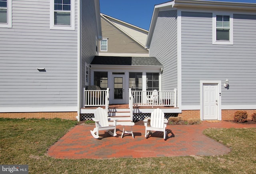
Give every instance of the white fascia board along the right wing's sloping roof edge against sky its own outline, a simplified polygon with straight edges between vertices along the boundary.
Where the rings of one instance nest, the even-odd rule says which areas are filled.
[[[170,9],[173,8],[173,5],[174,5],[174,1],[155,5],[153,15],[152,15],[152,18],[151,18],[151,22],[150,22],[149,31],[148,31],[148,37],[147,37],[147,40],[146,40],[146,46],[145,46],[146,48],[150,47],[152,35],[154,33],[154,29],[155,29],[155,25],[156,25],[158,12],[163,11],[163,10],[170,10]]]

